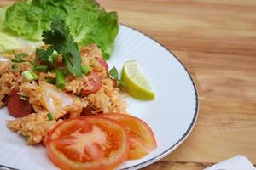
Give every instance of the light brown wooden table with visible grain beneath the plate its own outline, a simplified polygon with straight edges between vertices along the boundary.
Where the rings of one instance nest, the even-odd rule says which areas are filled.
[[[199,90],[200,113],[189,138],[144,169],[203,169],[238,154],[256,164],[256,1],[98,2],[171,49]]]

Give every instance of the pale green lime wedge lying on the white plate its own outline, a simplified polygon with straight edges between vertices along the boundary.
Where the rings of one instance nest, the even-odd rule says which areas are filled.
[[[151,100],[154,99],[154,92],[140,65],[136,61],[127,61],[121,72],[122,86],[135,99]]]

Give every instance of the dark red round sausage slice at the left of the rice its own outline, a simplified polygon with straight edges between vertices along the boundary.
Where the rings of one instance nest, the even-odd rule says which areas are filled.
[[[27,100],[20,99],[19,94],[9,96],[7,108],[9,114],[15,118],[27,116],[33,111],[32,105]]]

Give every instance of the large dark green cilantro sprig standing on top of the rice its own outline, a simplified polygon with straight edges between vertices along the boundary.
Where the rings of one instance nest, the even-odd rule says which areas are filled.
[[[50,45],[47,51],[51,52],[54,49],[59,54],[62,54],[63,59],[67,65],[68,71],[73,76],[82,76],[81,70],[81,56],[79,54],[79,47],[73,40],[73,36],[70,34],[69,28],[66,26],[65,21],[60,17],[56,17],[52,21],[50,30],[43,31],[43,42]],[[48,55],[44,59],[49,59]]]

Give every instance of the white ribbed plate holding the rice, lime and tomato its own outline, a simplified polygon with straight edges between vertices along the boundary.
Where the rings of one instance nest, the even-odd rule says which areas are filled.
[[[198,99],[195,84],[184,65],[159,42],[128,26],[119,27],[113,55],[108,61],[120,71],[125,61],[137,60],[148,77],[156,99],[128,98],[128,111],[147,122],[158,147],[137,161],[125,161],[119,169],[140,169],[160,160],[183,143],[195,125]],[[0,110],[0,165],[26,170],[56,169],[43,146],[28,146],[12,133],[5,120],[12,119],[6,108]]]

